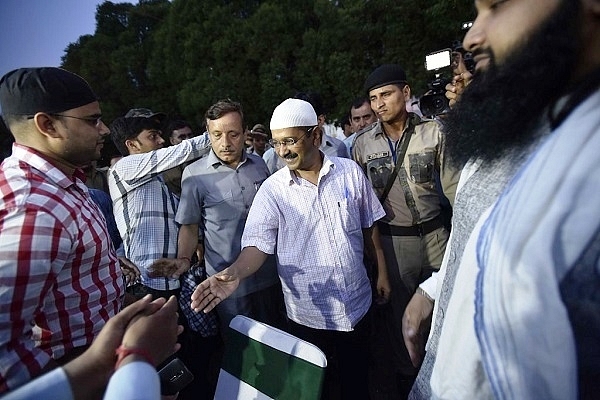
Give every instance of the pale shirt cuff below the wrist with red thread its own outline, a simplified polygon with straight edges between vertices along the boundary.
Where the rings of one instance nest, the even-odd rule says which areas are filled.
[[[160,400],[156,369],[143,361],[122,366],[111,376],[104,400]]]

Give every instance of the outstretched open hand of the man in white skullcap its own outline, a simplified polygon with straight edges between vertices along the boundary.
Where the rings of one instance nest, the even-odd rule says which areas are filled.
[[[192,293],[192,309],[210,312],[221,301],[229,297],[240,284],[240,279],[229,268],[210,276]]]

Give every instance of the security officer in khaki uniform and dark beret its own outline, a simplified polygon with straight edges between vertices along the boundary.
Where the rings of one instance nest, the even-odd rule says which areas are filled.
[[[392,294],[391,307],[383,312],[381,322],[390,333],[399,391],[404,392],[417,369],[402,339],[402,315],[419,283],[442,263],[448,231],[438,182],[453,201],[458,173],[444,166],[439,123],[422,121],[406,110],[411,91],[400,66],[378,67],[364,89],[379,121],[357,134],[352,157],[362,166],[386,211],[379,231]]]

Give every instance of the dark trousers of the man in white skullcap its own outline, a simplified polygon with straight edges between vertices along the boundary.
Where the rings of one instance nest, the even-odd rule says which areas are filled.
[[[320,348],[327,357],[322,399],[369,399],[370,317],[350,332],[313,329],[289,321],[290,333]]]

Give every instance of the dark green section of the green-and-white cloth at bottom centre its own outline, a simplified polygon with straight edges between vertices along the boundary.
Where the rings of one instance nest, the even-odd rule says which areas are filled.
[[[319,399],[325,369],[229,330],[222,369],[281,400]]]

